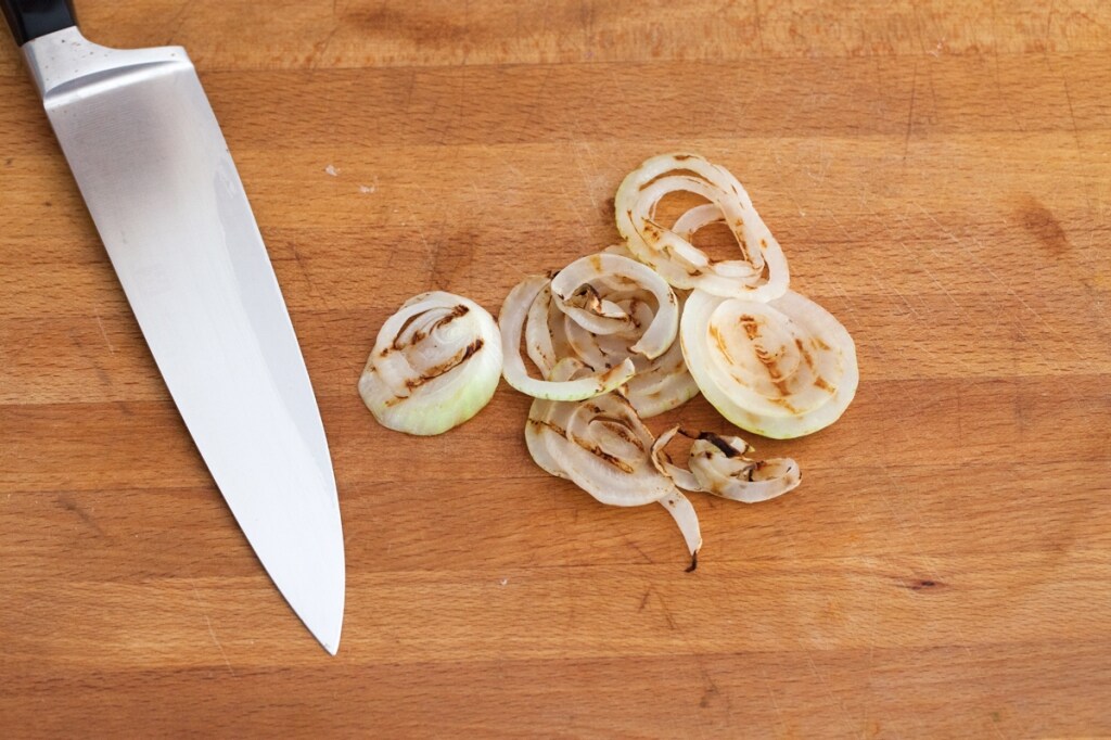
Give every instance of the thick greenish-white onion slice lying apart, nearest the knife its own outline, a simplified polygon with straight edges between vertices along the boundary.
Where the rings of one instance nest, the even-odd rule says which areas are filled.
[[[486,309],[452,293],[421,293],[382,324],[359,394],[383,427],[439,434],[490,402],[501,364],[501,336]]]

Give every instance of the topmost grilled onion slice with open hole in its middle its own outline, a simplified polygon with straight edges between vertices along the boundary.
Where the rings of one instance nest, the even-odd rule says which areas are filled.
[[[672,192],[710,201],[682,214],[669,229],[655,220]],[[782,296],[790,274],[779,242],[728,170],[698,154],[660,154],[621,182],[614,198],[618,231],[629,250],[675,288],[698,288],[722,297],[768,301]],[[737,238],[740,259],[714,262],[691,243],[699,229],[723,222]]]

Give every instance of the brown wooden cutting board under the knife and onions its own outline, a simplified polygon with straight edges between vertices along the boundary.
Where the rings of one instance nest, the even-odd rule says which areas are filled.
[[[273,259],[339,480],[329,658],[179,420],[0,43],[0,736],[1111,733],[1111,4],[78,0],[180,43]],[[497,310],[617,239],[648,156],[744,182],[860,354],[804,471],[658,507],[434,439],[356,382],[440,288]],[[701,399],[653,420],[729,427]]]

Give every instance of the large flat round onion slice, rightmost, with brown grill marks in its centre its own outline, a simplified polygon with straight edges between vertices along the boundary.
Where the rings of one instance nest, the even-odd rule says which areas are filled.
[[[707,400],[729,421],[764,437],[823,429],[857,392],[849,332],[793,291],[762,303],[697,290],[687,299],[680,338]]]

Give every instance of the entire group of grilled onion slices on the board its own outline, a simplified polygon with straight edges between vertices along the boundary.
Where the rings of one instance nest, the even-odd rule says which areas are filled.
[[[704,202],[667,223],[661,202],[675,192]],[[497,326],[450,293],[407,301],[382,327],[359,390],[382,424],[436,434],[473,417],[503,373],[534,399],[524,437],[537,464],[602,503],[663,506],[693,570],[702,538],[680,489],[757,503],[797,488],[801,471],[790,458],[749,457],[740,437],[672,426],[657,438],[644,419],[701,391],[741,429],[812,433],[852,401],[855,347],[790,290],[783,250],[724,168],[653,157],[622,181],[614,212],[621,244],[524,278]],[[711,224],[732,233],[734,259],[694,244]],[[685,466],[667,450],[681,438],[691,440]]]

